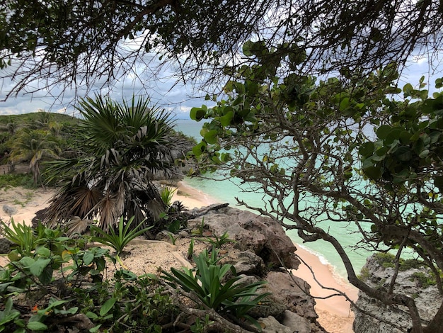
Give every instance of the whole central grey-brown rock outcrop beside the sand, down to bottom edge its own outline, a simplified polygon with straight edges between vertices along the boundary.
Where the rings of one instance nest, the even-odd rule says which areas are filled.
[[[227,205],[212,205],[188,213],[198,216],[188,220],[191,230],[203,226],[207,235],[220,237],[226,232],[235,240],[222,261],[234,264],[236,272],[243,275],[241,281],[267,281],[261,290],[271,293],[267,306],[255,307],[251,313],[259,318],[262,332],[326,332],[316,322],[316,303],[309,295],[311,286],[281,269],[282,266],[297,269],[299,261],[294,255],[297,248],[278,222]]]

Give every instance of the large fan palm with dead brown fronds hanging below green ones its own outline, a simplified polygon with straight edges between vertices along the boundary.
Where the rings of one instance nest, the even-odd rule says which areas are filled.
[[[168,115],[149,108],[149,99],[132,98],[115,103],[96,96],[81,100],[77,107],[77,148],[81,157],[54,161],[48,167],[64,185],[52,198],[46,220],[66,223],[100,218],[104,230],[116,227],[120,216],[134,225],[148,219],[154,224],[166,209],[153,183],[155,172],[173,170]]]

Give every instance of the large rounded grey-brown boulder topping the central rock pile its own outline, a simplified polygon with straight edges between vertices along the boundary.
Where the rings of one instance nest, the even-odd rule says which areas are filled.
[[[206,208],[207,209],[207,208]],[[192,215],[198,215],[195,211]],[[234,247],[240,251],[249,250],[260,256],[267,267],[297,269],[300,262],[294,252],[297,250],[292,240],[284,233],[282,226],[263,216],[246,210],[224,207],[209,210],[204,216],[205,225],[214,235],[222,236],[227,232],[234,239]],[[200,223],[202,218],[189,220]]]

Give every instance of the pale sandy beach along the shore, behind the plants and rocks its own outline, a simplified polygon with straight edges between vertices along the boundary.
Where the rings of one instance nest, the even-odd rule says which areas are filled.
[[[9,188],[0,190],[1,206],[9,205],[16,208],[13,219],[16,222],[30,223],[34,218],[35,212],[46,208],[50,198],[54,195],[54,189],[38,189],[35,191],[23,188]],[[217,200],[207,196],[202,191],[192,188],[179,182],[177,190],[174,193],[173,201],[181,201],[186,208],[200,208]],[[10,216],[4,210],[0,211],[0,218],[8,221]],[[297,245],[297,255],[300,256],[315,273],[317,280],[328,288],[336,288],[344,291],[352,300],[357,300],[357,289],[350,286],[346,281],[340,280],[333,274],[332,267],[322,264],[318,256],[306,251],[303,247]],[[4,257],[0,257],[0,264],[4,264]],[[350,303],[343,296],[328,297],[334,292],[321,288],[313,279],[311,270],[301,264],[299,269],[294,270],[295,276],[299,276],[311,285],[311,295],[316,297],[316,311],[318,313],[318,322],[330,333],[352,333],[353,313],[350,311]]]

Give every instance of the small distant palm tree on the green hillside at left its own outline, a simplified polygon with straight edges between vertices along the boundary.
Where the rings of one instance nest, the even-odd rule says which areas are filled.
[[[29,169],[33,174],[34,185],[40,183],[44,187],[41,177],[41,163],[45,159],[57,159],[59,147],[54,137],[45,130],[30,130],[23,128],[11,145],[11,156],[8,162],[15,165],[28,161]]]

